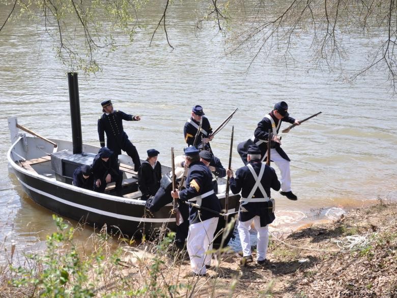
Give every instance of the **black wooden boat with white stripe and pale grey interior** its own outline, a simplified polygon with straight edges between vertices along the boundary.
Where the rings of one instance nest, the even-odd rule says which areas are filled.
[[[8,122],[12,141],[7,154],[9,164],[26,194],[37,204],[95,228],[106,225],[108,230],[120,231],[128,237],[150,236],[164,223],[169,229],[176,229],[172,204],[152,214],[145,207],[146,201],[140,200],[137,173],[133,171],[129,156],[119,155],[124,177],[123,197],[113,195],[114,185],[111,184],[104,194],[96,193],[73,186],[71,182],[74,169],[82,164],[91,164],[99,147],[82,144],[82,152],[73,154],[70,141],[29,136],[20,133],[18,126],[21,126],[15,117],[9,118]],[[162,166],[163,174],[169,171],[171,168]],[[218,178],[217,197],[222,208],[225,206],[225,184],[225,179]],[[238,212],[239,199],[240,195],[230,194],[230,215]],[[224,217],[220,216],[218,229],[224,225]]]

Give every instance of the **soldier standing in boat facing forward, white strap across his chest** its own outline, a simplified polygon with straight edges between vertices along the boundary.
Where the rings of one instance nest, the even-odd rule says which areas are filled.
[[[204,117],[203,107],[201,105],[193,106],[191,110],[191,117],[186,121],[185,127],[183,128],[183,134],[185,136],[185,142],[188,146],[193,146],[194,138],[197,133],[197,129],[202,121],[201,133],[197,137],[196,146],[201,143],[208,143],[212,140],[210,134],[212,128],[207,117]]]

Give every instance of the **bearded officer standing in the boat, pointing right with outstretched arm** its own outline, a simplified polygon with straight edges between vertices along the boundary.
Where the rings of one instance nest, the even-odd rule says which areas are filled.
[[[110,100],[101,102],[103,115],[98,119],[98,134],[101,147],[105,146],[105,132],[107,148],[112,150],[116,158],[124,150],[134,163],[134,171],[137,172],[140,167],[140,159],[135,146],[128,140],[127,133],[123,128],[123,120],[139,121],[140,116],[128,115],[122,111],[114,111]]]

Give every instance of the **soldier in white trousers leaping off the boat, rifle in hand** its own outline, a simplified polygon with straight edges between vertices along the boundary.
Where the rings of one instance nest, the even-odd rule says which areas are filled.
[[[267,143],[271,140],[271,160],[274,161],[281,174],[281,192],[280,194],[286,196],[290,200],[296,201],[298,198],[292,193],[291,189],[291,170],[290,170],[290,158],[287,153],[281,148],[281,137],[278,136],[278,130],[280,129],[281,122],[288,122],[291,124],[299,125],[299,121],[289,116],[288,104],[285,101],[277,102],[274,105],[273,111],[266,115],[261,122],[258,123],[257,129],[253,134],[253,137],[246,142],[240,143],[237,146],[237,151],[244,162],[247,165],[247,149],[249,145],[257,145],[261,150],[262,161],[267,156]],[[271,130],[269,136],[269,129]]]

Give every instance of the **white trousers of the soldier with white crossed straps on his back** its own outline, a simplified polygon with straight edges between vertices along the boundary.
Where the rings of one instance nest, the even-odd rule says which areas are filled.
[[[261,227],[261,218],[258,215],[254,216],[252,219],[246,222],[241,222],[239,220],[237,230],[239,231],[241,247],[243,248],[243,256],[246,257],[252,255],[251,241],[249,238],[249,228],[251,226],[252,221],[255,226],[255,229],[258,231],[257,261],[262,261],[266,259],[267,246],[269,244],[269,233],[268,233],[269,225],[266,225],[265,227]]]

